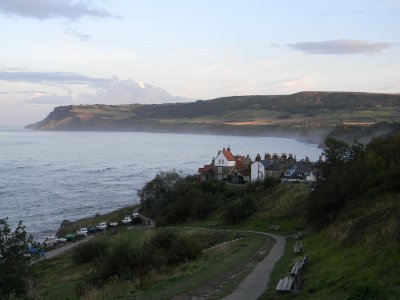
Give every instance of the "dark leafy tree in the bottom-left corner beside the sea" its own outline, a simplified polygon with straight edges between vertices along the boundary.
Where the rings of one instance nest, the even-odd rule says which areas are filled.
[[[31,264],[39,255],[32,249],[40,249],[20,221],[13,231],[6,219],[0,219],[0,299],[10,295],[25,295],[29,288]]]

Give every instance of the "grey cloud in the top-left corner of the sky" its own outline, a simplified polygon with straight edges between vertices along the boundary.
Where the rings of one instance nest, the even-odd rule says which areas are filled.
[[[0,12],[39,20],[53,18],[75,20],[85,16],[114,17],[106,10],[96,8],[90,1],[83,0],[1,0]]]

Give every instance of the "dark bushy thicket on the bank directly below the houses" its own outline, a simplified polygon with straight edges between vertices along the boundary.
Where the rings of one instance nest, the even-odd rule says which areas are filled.
[[[256,212],[252,191],[262,193],[277,183],[267,180],[235,187],[216,180],[199,182],[197,176],[182,177],[173,170],[158,174],[138,195],[142,213],[154,218],[159,225],[205,220],[218,213],[226,223],[232,224]]]

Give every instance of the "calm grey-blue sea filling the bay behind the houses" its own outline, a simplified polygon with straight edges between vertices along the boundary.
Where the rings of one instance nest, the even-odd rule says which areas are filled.
[[[0,218],[22,220],[35,239],[63,220],[139,202],[137,191],[160,171],[196,174],[218,150],[252,159],[292,153],[316,161],[316,144],[287,138],[144,132],[31,131],[0,127]]]

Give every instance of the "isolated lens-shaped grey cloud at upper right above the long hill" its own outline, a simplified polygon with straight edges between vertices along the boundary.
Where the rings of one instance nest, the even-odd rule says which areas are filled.
[[[391,43],[370,43],[367,41],[340,39],[323,42],[305,42],[287,46],[307,54],[375,54],[388,49]]]

